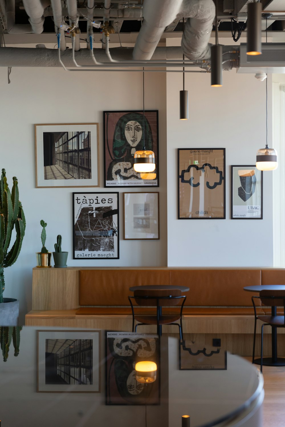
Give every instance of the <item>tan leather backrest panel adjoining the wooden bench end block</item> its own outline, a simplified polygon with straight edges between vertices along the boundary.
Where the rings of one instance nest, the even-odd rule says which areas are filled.
[[[170,270],[79,270],[79,305],[128,305],[131,286],[169,285]]]

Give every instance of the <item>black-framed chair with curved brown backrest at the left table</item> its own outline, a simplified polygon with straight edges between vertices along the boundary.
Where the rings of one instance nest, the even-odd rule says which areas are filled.
[[[162,325],[177,325],[179,327],[179,336],[182,339],[182,310],[186,300],[185,295],[181,295],[179,289],[159,289],[159,290],[135,290],[133,296],[129,296],[129,302],[132,307],[132,331],[136,332],[139,325],[156,325],[158,335],[162,334]],[[132,304],[135,300],[138,306],[156,307],[156,314],[135,313],[136,309]],[[182,304],[181,304],[182,303]],[[180,311],[177,313],[162,313],[162,307],[173,307],[180,305]],[[141,310],[140,310],[141,311]],[[135,325],[135,320],[139,323]],[[180,320],[179,323],[174,323]]]

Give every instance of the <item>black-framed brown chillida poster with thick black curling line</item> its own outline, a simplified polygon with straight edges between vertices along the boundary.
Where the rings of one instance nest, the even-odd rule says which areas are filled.
[[[226,218],[226,150],[178,149],[178,219]]]

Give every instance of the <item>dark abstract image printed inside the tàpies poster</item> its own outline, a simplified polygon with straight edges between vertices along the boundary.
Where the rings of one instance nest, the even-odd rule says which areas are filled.
[[[118,227],[113,215],[118,209],[112,206],[82,208],[76,221],[75,251],[114,252],[114,237],[118,236]]]

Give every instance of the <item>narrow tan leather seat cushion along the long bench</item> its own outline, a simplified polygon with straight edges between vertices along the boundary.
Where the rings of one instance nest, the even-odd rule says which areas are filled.
[[[163,313],[173,314],[179,313],[179,307],[163,308]],[[264,315],[264,311],[257,307],[256,312],[258,315]],[[155,314],[156,311],[149,307],[135,307],[135,314],[149,315]],[[112,316],[112,315],[132,315],[131,307],[81,307],[76,311],[76,315],[94,315],[94,316]],[[246,308],[220,308],[220,307],[184,307],[183,315],[196,315],[196,316],[253,316],[254,311],[252,307]]]

